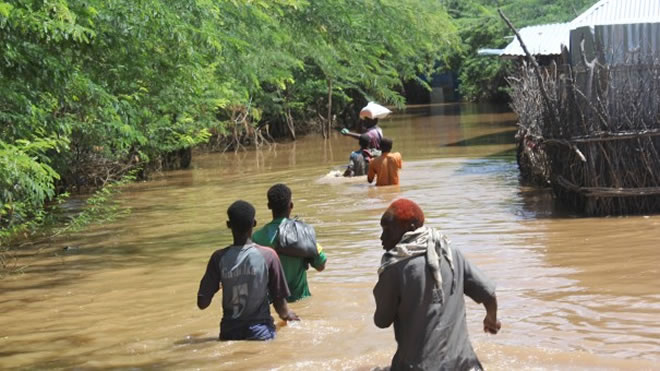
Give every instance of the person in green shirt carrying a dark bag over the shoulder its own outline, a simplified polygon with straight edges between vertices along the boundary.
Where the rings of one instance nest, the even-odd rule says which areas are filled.
[[[252,241],[262,246],[274,247],[280,223],[291,216],[291,210],[293,209],[291,189],[285,184],[275,184],[268,190],[267,197],[268,208],[273,213],[273,220],[256,231],[252,235]],[[278,254],[282,268],[284,268],[284,276],[289,291],[291,291],[291,296],[286,299],[289,303],[312,295],[307,284],[307,268],[311,265],[321,272],[325,269],[325,262],[327,261],[321,245],[317,244],[317,248],[319,254],[314,259]]]

